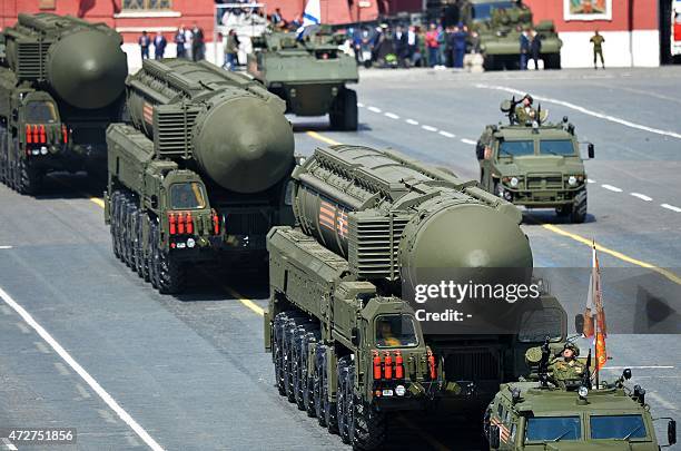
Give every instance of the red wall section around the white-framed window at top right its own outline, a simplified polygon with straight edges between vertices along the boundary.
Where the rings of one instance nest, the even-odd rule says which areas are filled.
[[[565,21],[563,2],[565,0],[524,0],[532,12],[534,21],[552,19],[559,31],[626,31],[629,30],[630,6],[633,4],[633,29],[658,29],[658,0],[612,0],[612,20]]]

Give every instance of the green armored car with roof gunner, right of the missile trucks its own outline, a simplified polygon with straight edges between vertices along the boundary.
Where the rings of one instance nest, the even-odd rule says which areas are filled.
[[[529,96],[525,96],[527,98]],[[530,98],[531,99],[531,98]],[[547,111],[505,100],[509,124],[488,125],[477,140],[482,186],[527,208],[555,208],[573,223],[586,218],[586,173],[575,129],[568,117],[547,122]],[[594,157],[588,143],[589,158]]]

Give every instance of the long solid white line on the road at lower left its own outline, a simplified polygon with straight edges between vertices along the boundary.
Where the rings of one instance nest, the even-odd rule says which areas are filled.
[[[126,423],[135,433],[154,451],[164,451],[160,444],[156,442],[149,435],[149,433],[140,427],[137,421],[128,412],[126,412],[119,404],[116,402],[114,398],[109,393],[106,392],[105,389],[99,385],[99,382],[95,380],[87,371],[83,370],[82,366],[73,357],[69,354],[58,342],[50,335],[45,327],[42,327],[33,317],[23,308],[21,305],[17,303],[4,290],[0,288],[0,297],[4,303],[11,307],[14,312],[19,314],[26,321],[26,323],[31,326],[38,335],[42,340],[45,340],[56,352],[59,354],[61,359],[73,370],[82,380],[102,399],[105,403],[114,411],[116,414]]]

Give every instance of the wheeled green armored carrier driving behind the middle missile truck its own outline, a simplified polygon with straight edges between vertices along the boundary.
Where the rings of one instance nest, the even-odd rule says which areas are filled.
[[[357,82],[357,63],[338,49],[336,37],[266,32],[251,42],[248,72],[286,100],[287,112],[328,114],[332,128],[357,129],[357,92],[345,86]]]

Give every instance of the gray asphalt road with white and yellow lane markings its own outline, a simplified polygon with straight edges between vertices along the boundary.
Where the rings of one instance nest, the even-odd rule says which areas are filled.
[[[470,143],[501,118],[499,104],[511,90],[530,90],[545,99],[552,118],[569,115],[581,138],[596,146],[588,163],[594,180],[588,223],[526,214],[535,264],[589,266],[581,239],[593,237],[609,251],[601,253],[604,266],[681,274],[681,212],[669,208],[681,207],[680,78],[677,68],[365,72],[357,88],[361,130],[332,133],[324,118],[294,118],[296,145],[303,154],[329,139],[393,147],[476,177]],[[114,258],[101,208],[83,196],[95,193],[92,184],[59,179],[70,186],[52,183],[50,196],[38,198],[0,187],[0,287],[136,424],[166,449],[345,449],[273,388],[257,313],[266,307],[266,281],[201,267],[187,294],[160,296]],[[655,415],[680,416],[678,335],[612,335],[608,349],[610,373],[632,366]],[[78,449],[146,447],[128,419],[3,303],[0,378],[0,425],[76,427],[71,448]],[[476,449],[476,424],[447,412],[398,419],[391,448]]]

